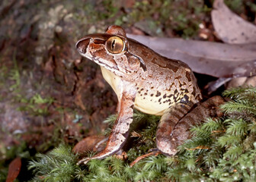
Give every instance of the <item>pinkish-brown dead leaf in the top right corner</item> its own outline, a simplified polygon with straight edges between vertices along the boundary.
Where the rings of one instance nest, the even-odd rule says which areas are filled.
[[[256,42],[256,26],[229,10],[223,0],[215,0],[211,12],[213,27],[223,42],[243,44]]]

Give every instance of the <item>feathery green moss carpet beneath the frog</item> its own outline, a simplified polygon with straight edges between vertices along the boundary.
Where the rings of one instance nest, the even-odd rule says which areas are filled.
[[[255,105],[255,92],[256,88],[250,87],[228,90],[225,95],[232,96],[235,103],[250,100],[251,105]],[[135,122],[146,120],[148,127],[136,130],[140,137],[127,152],[126,161],[110,156],[77,166],[77,156],[69,147],[61,146],[46,155],[37,155],[37,160],[30,162],[30,168],[34,169],[37,180],[43,177],[41,180],[46,181],[254,181],[255,115],[251,108],[236,108],[229,102],[222,108],[229,117],[208,119],[192,127],[193,137],[179,146],[180,152],[173,157],[151,156],[130,168],[134,158],[148,152],[147,145],[154,146],[149,143],[155,143],[155,120],[158,119],[136,112]],[[114,117],[108,121],[113,122]]]

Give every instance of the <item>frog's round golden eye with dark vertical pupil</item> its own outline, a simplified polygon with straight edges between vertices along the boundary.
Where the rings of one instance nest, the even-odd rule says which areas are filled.
[[[111,36],[106,42],[107,51],[113,54],[123,52],[124,46],[123,39],[118,36]]]

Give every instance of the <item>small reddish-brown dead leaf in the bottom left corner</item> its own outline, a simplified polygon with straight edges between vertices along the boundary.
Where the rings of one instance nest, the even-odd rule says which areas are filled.
[[[6,182],[13,182],[21,171],[21,158],[14,158],[8,169]]]

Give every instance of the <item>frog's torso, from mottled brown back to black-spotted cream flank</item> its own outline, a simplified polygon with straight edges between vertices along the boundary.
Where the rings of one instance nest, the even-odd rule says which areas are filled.
[[[151,115],[163,115],[178,102],[197,103],[202,99],[197,80],[190,67],[182,61],[165,58],[147,48],[130,49],[145,60],[147,74],[136,80],[135,107]]]

